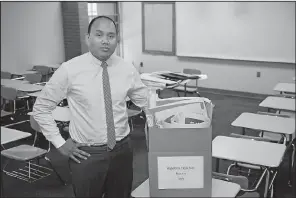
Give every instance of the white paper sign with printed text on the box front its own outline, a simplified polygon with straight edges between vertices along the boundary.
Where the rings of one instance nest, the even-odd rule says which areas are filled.
[[[157,157],[158,189],[204,187],[203,156]]]

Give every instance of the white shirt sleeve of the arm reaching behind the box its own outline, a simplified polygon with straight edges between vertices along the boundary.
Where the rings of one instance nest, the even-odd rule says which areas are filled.
[[[136,69],[132,71],[132,86],[128,91],[128,97],[145,112],[148,110],[148,88],[143,84]]]

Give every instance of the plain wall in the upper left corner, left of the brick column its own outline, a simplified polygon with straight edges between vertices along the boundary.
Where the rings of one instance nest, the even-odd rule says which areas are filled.
[[[64,59],[60,2],[1,2],[1,70]]]

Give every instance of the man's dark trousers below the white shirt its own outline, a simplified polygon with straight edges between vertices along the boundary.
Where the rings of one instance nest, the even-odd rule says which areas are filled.
[[[91,156],[78,164],[69,160],[76,197],[130,198],[133,181],[133,150],[129,137],[106,146],[80,147]]]

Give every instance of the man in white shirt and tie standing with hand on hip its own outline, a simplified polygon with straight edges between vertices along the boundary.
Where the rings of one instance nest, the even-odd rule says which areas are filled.
[[[89,52],[63,63],[33,107],[44,136],[69,157],[76,197],[130,197],[133,153],[126,98],[146,111],[148,91],[135,67],[114,55],[117,33],[112,19],[94,18],[86,36]],[[71,112],[67,141],[52,117],[64,97]]]

